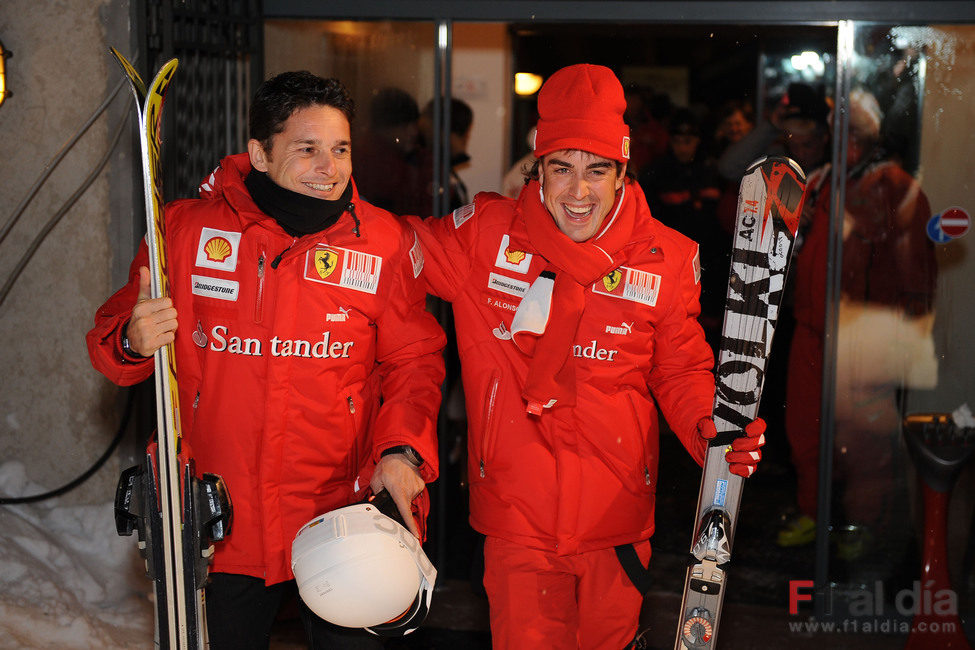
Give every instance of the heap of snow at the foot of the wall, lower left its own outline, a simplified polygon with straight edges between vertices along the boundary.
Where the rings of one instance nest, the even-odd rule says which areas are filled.
[[[44,492],[0,464],[0,495]],[[152,646],[152,584],[112,504],[0,506],[0,650]]]

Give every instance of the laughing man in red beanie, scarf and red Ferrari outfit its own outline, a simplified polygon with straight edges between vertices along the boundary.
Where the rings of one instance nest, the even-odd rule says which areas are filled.
[[[625,646],[642,595],[615,547],[649,560],[656,405],[699,463],[714,435],[697,244],[625,176],[625,108],[608,68],[559,70],[517,199],[410,218],[424,279],[453,303],[495,648]],[[763,428],[735,441],[732,471],[755,470]]]

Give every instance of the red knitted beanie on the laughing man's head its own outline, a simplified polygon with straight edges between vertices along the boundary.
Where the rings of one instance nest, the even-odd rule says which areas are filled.
[[[580,63],[562,68],[538,93],[535,157],[580,149],[625,162],[630,158],[630,127],[623,121],[626,98],[613,71]]]

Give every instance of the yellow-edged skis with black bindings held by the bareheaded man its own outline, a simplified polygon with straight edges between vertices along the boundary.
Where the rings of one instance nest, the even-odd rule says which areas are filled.
[[[162,109],[177,60],[166,62],[147,88],[135,68],[115,48],[139,118],[152,297],[169,295],[166,225],[162,214],[160,161]],[[119,535],[138,531],[139,548],[155,592],[155,645],[190,650],[206,647],[203,586],[211,540],[229,532],[232,508],[220,477],[196,475],[182,445],[176,357],[173,345],[155,355],[156,440],[145,461],[122,473],[115,495]]]

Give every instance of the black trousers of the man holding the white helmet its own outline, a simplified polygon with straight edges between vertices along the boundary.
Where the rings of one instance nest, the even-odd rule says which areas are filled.
[[[270,587],[260,578],[211,573],[206,587],[207,630],[211,650],[267,650],[271,628],[294,581]],[[299,599],[301,622],[311,650],[380,650],[382,641],[360,629],[332,625]]]

